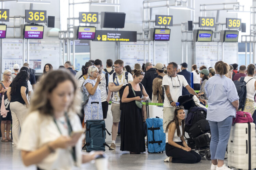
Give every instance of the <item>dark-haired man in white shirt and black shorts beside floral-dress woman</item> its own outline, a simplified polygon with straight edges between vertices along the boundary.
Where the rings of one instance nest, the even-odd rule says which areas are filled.
[[[103,71],[102,61],[97,59],[94,61],[94,66],[99,69],[99,75],[101,75],[102,80],[99,83],[100,93],[101,93],[101,104],[102,104],[102,111],[103,111],[103,119],[106,119],[108,114],[109,108],[109,101],[112,95],[112,92],[108,90],[109,85],[109,73]],[[95,80],[97,81],[97,79]]]

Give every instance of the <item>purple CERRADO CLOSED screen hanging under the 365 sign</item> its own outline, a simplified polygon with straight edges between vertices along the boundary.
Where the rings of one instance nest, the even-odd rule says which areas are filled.
[[[25,25],[24,38],[26,39],[42,39],[44,35],[44,26]]]

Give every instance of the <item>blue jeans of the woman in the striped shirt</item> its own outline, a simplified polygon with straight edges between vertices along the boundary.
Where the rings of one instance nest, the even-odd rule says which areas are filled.
[[[224,160],[230,136],[233,116],[229,116],[221,122],[209,121],[211,128],[211,159]]]

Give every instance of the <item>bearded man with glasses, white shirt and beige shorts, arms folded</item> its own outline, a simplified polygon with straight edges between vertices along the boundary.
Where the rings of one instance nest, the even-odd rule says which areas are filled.
[[[118,131],[118,123],[120,121],[120,97],[119,90],[123,85],[126,85],[133,81],[131,73],[128,73],[123,70],[124,62],[122,60],[116,60],[114,62],[115,72],[109,77],[109,90],[113,91],[112,97],[112,106],[111,112],[113,116],[113,125],[112,125],[112,143],[110,149],[116,149],[115,141]],[[114,79],[113,79],[114,77]]]

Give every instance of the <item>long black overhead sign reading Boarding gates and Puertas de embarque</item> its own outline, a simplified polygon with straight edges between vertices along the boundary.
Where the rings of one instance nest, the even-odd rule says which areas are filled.
[[[105,31],[105,30],[96,30],[95,39],[93,41],[136,42],[137,41],[137,31]]]

